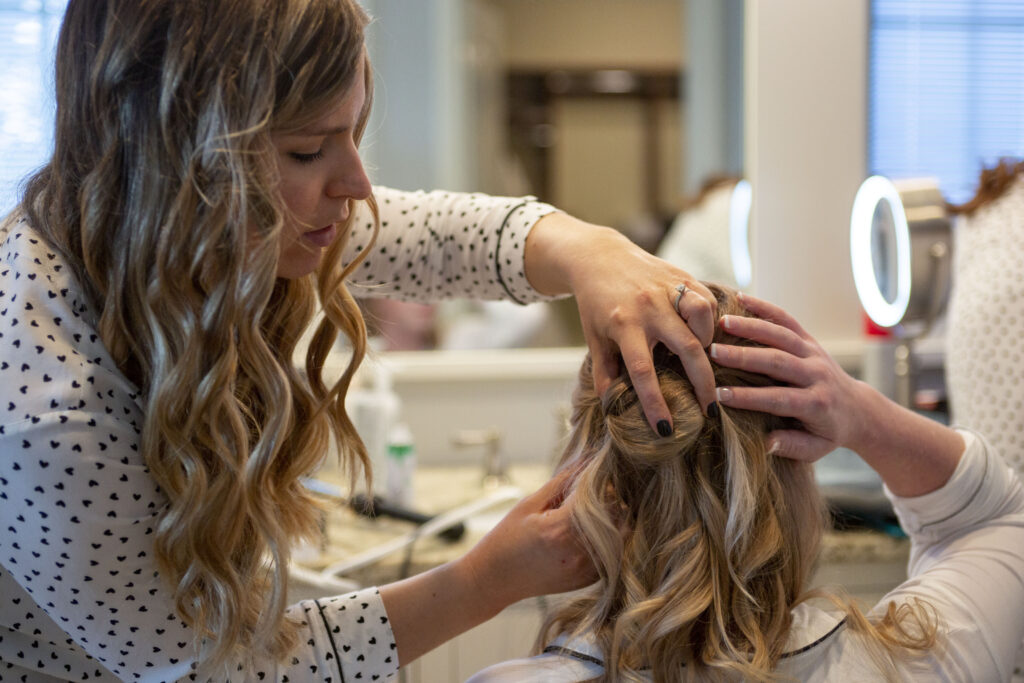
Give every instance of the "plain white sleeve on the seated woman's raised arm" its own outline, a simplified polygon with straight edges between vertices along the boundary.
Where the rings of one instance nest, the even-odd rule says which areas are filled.
[[[873,611],[913,598],[935,608],[942,636],[916,665],[925,678],[1009,680],[1024,636],[1024,489],[981,436],[961,433],[966,450],[944,486],[887,490],[910,536],[909,578]]]

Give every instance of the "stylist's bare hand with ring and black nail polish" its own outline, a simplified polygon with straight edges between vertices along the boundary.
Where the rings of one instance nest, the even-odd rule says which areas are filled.
[[[555,213],[530,230],[526,275],[540,292],[575,296],[598,394],[625,370],[651,428],[671,430],[672,416],[651,357],[660,342],[679,355],[705,412],[717,410],[711,408],[715,377],[705,352],[715,332],[717,306],[712,293],[689,273],[617,230]],[[679,285],[686,286],[681,297]]]

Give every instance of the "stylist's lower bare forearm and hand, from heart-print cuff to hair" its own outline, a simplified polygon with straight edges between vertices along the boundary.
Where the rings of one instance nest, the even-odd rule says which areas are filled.
[[[402,666],[514,602],[597,579],[561,504],[566,478],[520,501],[464,557],[381,588]]]

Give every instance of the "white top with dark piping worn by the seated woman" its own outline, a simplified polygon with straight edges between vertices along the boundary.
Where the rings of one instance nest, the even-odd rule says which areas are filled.
[[[948,482],[916,498],[889,494],[910,536],[908,579],[871,610],[921,598],[944,624],[941,644],[898,659],[899,680],[977,683],[1010,679],[1024,636],[1024,488],[972,432]],[[887,492],[888,493],[888,492]],[[794,610],[778,673],[810,683],[877,681],[881,674],[842,614],[803,603]],[[589,639],[560,638],[544,654],[495,665],[468,683],[562,683],[599,675],[603,653]]]

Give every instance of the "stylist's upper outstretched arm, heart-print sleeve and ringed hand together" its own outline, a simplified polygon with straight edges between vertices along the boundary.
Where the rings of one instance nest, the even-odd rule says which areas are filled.
[[[593,225],[532,198],[375,187],[381,231],[356,207],[346,248],[370,249],[350,282],[355,296],[411,301],[452,297],[517,303],[571,294],[603,391],[625,369],[652,432],[672,418],[658,390],[651,348],[662,342],[683,359],[697,399],[714,412],[714,382],[703,348],[715,299],[696,279],[637,247],[617,230]],[[679,298],[676,287],[686,285]]]

